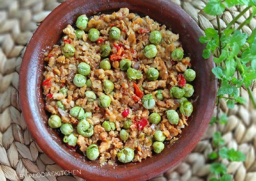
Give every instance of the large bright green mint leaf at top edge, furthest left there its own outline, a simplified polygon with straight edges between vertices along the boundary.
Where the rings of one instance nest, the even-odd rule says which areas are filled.
[[[221,0],[210,0],[204,8],[204,12],[209,15],[220,15],[224,10],[225,5],[221,3]]]

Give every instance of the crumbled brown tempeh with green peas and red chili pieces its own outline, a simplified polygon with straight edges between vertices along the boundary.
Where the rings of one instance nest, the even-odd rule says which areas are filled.
[[[48,125],[101,165],[142,161],[178,139],[195,79],[179,36],[121,8],[68,25],[46,54]]]

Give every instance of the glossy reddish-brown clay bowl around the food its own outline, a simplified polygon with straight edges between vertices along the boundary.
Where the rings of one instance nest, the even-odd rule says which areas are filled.
[[[44,52],[49,51],[61,39],[62,29],[74,24],[81,14],[87,16],[113,12],[127,7],[131,12],[149,15],[161,24],[179,33],[185,53],[192,59],[197,72],[194,81],[194,112],[189,126],[172,146],[166,146],[160,154],[142,160],[141,163],[99,166],[98,161],[88,161],[81,154],[61,143],[56,131],[47,127],[48,115],[44,109],[42,74]],[[197,145],[212,116],[216,97],[216,79],[211,73],[212,57],[201,56],[204,45],[198,38],[202,35],[195,21],[169,0],[67,0],[54,9],[38,27],[27,45],[20,69],[20,104],[27,126],[40,148],[65,170],[81,170],[78,176],[87,180],[139,181],[154,178],[179,163]]]

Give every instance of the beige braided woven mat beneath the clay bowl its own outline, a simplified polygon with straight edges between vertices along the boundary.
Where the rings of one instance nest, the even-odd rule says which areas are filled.
[[[172,0],[180,5],[202,30],[217,27],[214,16],[201,11],[207,0]],[[32,139],[18,104],[18,77],[24,47],[40,23],[63,0],[0,0],[0,181],[22,180],[27,173],[55,172],[62,170],[41,151]],[[221,15],[222,29],[244,7],[229,8]],[[249,12],[238,19],[238,27]],[[253,19],[242,31],[251,34],[256,27]],[[226,125],[209,125],[201,141],[185,160],[175,168],[152,179],[152,181],[204,181],[211,178],[210,161],[207,155],[212,147],[211,137],[218,130],[222,133],[226,146],[244,152],[245,162],[222,160],[227,172],[235,181],[256,180],[256,111],[252,109],[249,96],[243,89],[240,94],[247,100],[244,106],[236,105],[229,110],[224,101],[221,111],[227,113]],[[253,91],[256,97],[256,89]],[[216,113],[216,110],[215,110]],[[24,176],[23,176],[24,177]],[[25,181],[82,181],[76,175],[29,177]]]

